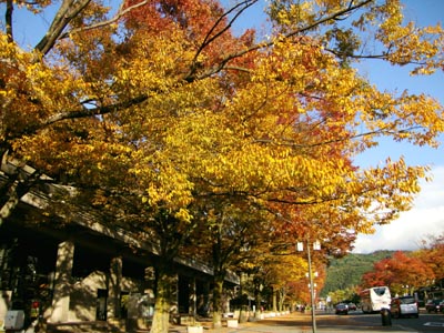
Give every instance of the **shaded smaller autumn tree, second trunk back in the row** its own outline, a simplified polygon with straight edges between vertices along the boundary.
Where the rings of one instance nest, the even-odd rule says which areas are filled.
[[[212,314],[218,327],[222,325],[224,280],[229,272],[249,274],[261,264],[272,242],[269,224],[272,216],[238,195],[200,202],[201,213],[194,216],[203,221],[196,225],[191,251],[185,248],[183,253],[198,255],[213,268]]]

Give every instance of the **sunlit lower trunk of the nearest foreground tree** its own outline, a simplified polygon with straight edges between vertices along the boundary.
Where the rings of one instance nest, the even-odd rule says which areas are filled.
[[[173,276],[171,274],[162,269],[158,270],[158,285],[151,333],[168,333],[169,331],[172,283]]]

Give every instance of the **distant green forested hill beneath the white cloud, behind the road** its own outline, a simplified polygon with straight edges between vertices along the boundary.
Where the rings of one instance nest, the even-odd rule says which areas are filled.
[[[332,259],[326,270],[326,280],[321,296],[336,290],[345,290],[361,284],[364,273],[373,270],[373,264],[392,256],[395,251],[376,251],[369,254],[351,253],[341,259]]]

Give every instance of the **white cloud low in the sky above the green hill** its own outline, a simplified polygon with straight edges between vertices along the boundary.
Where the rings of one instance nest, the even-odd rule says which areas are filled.
[[[376,250],[417,250],[430,235],[444,233],[444,167],[432,170],[433,181],[424,182],[414,208],[372,235],[359,235],[354,253]]]

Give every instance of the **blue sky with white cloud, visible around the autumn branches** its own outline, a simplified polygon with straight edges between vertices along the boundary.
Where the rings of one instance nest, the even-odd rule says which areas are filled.
[[[104,0],[105,3],[115,3]],[[223,0],[232,4],[234,0]],[[443,23],[444,1],[442,0],[404,0],[405,18],[418,26]],[[265,33],[266,27],[263,8],[265,0],[260,0],[250,8],[234,29],[242,33],[246,28],[254,27]],[[0,13],[4,12],[4,3],[0,4]],[[53,11],[43,12],[38,17],[23,10],[17,10],[14,37],[22,46],[34,46],[49,27]],[[3,17],[1,24],[4,24]],[[26,22],[26,24],[22,24]],[[362,74],[383,90],[424,92],[436,98],[444,105],[444,74],[432,77],[410,77],[405,69],[396,69],[381,61],[366,61],[360,65]],[[444,135],[441,137],[444,141]],[[356,242],[355,252],[367,253],[375,250],[415,250],[420,241],[431,234],[444,233],[444,147],[438,149],[416,148],[410,144],[398,144],[390,140],[381,142],[380,147],[362,154],[356,162],[360,165],[377,164],[391,157],[392,160],[403,155],[410,164],[432,167],[434,181],[423,183],[423,190],[415,201],[414,209],[405,212],[390,225],[377,229],[374,235],[361,235]]]

